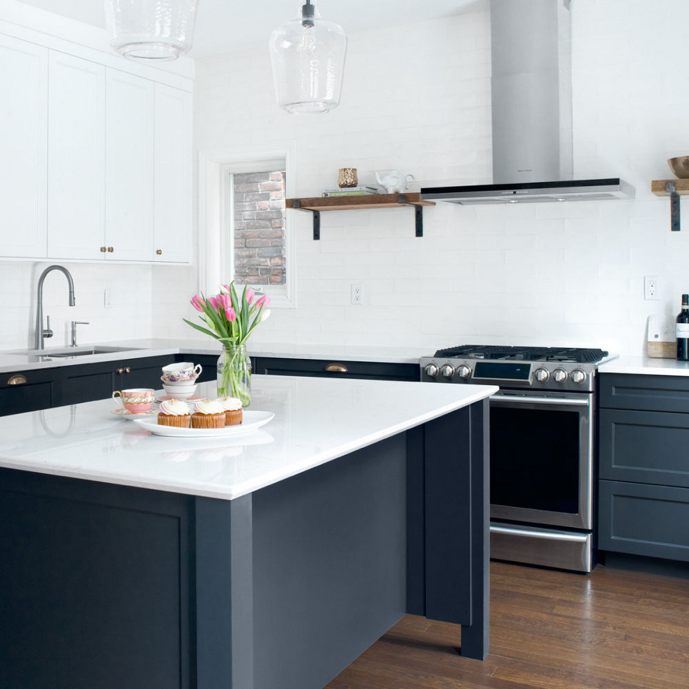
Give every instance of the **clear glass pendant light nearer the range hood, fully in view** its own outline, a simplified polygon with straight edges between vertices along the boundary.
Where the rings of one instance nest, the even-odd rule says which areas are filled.
[[[340,104],[347,37],[342,27],[321,19],[311,0],[301,16],[270,37],[275,93],[292,114],[328,112]]]

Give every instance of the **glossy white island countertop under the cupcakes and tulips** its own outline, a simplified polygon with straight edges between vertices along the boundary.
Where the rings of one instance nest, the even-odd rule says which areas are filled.
[[[165,438],[112,400],[0,418],[0,466],[224,500],[251,493],[497,392],[491,385],[254,376],[250,409],[273,411],[237,438]],[[198,392],[215,396],[215,383]]]

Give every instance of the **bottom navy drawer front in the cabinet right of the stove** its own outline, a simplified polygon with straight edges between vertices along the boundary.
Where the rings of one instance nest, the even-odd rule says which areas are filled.
[[[689,562],[689,489],[599,482],[598,547]]]

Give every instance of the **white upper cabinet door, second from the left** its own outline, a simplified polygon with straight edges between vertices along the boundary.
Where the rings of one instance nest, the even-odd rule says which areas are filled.
[[[105,68],[50,53],[48,256],[103,258]]]

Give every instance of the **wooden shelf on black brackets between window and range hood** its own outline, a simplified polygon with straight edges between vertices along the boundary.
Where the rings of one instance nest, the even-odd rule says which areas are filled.
[[[320,213],[322,211],[353,211],[374,208],[415,207],[416,236],[422,237],[423,207],[434,206],[435,201],[421,198],[420,192],[408,194],[362,194],[361,196],[311,196],[309,198],[287,198],[286,208],[313,213],[313,238],[320,239]]]

